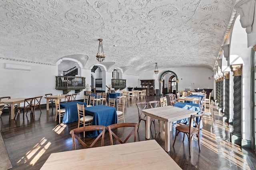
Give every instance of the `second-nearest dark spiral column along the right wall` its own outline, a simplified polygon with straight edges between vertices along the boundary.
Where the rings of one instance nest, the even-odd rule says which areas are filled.
[[[229,72],[223,72],[225,79],[225,107],[224,107],[224,115],[223,121],[228,123],[229,120]]]

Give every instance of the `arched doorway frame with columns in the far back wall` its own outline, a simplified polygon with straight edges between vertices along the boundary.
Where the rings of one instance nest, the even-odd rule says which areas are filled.
[[[176,82],[176,84],[174,84],[174,86],[173,86],[173,88],[172,88],[172,92],[174,92],[174,93],[176,93],[177,91],[178,91],[178,81],[179,81],[179,79],[178,79],[178,76],[177,76],[177,74],[175,73],[175,72],[173,72],[173,71],[170,71],[170,70],[168,70],[168,71],[164,71],[162,74],[160,74],[160,76],[159,76],[159,88],[160,88],[160,90],[159,90],[159,93],[160,94],[164,94],[164,88],[165,88],[165,80],[164,80],[164,76],[166,75],[166,74],[173,74],[173,77],[172,77],[172,79],[174,79],[174,77],[175,77],[175,82]],[[169,79],[168,79],[169,80]],[[174,91],[175,90],[175,91]]]

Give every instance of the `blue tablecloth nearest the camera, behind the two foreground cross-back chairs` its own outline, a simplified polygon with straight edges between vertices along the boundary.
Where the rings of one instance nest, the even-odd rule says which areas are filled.
[[[117,123],[116,108],[97,105],[84,108],[85,115],[93,116],[92,125],[108,126]],[[93,131],[88,137],[97,137],[100,131]]]

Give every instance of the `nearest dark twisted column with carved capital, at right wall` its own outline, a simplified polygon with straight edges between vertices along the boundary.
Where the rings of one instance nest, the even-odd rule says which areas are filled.
[[[241,146],[242,141],[242,64],[230,65],[234,76],[234,121],[230,142]]]

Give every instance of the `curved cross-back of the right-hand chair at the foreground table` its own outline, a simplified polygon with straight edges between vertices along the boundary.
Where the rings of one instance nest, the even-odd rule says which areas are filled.
[[[129,135],[123,141],[112,131],[112,129],[118,129],[120,127],[133,127],[132,131],[129,133]],[[122,144],[122,143],[126,143],[127,140],[132,136],[132,134],[134,134],[134,142],[136,142],[136,135],[137,135],[137,129],[138,129],[137,123],[117,123],[117,124],[108,125],[107,129],[108,129],[109,136],[110,136],[110,145],[113,145],[112,136],[114,136],[117,139],[117,141],[119,141]],[[123,133],[120,136],[123,136]]]

